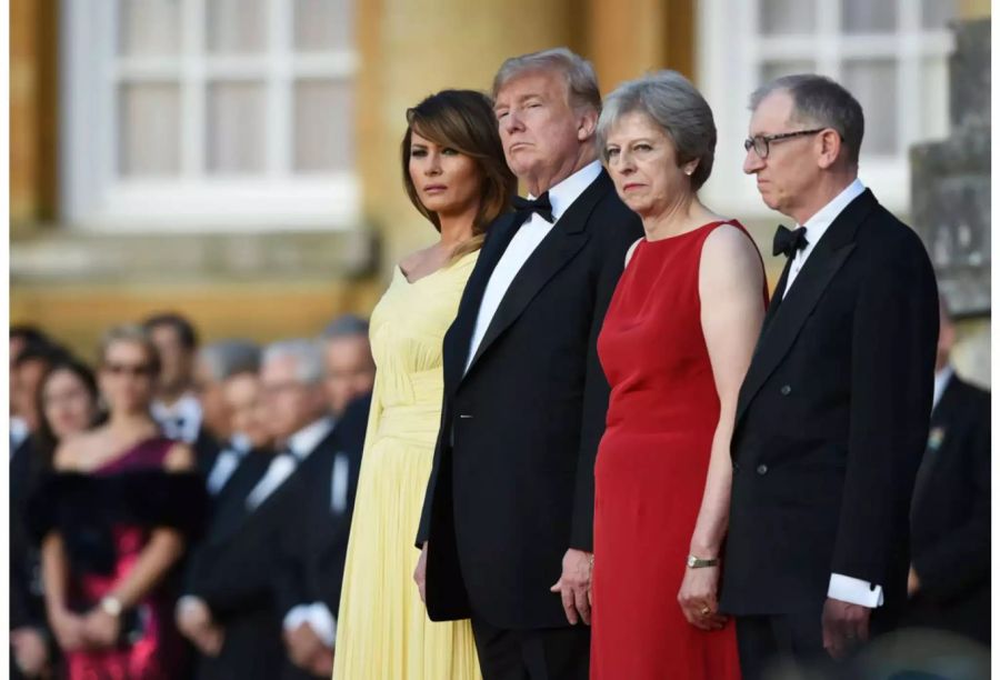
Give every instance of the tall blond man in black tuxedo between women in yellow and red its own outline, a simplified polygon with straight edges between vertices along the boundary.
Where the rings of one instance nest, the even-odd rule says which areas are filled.
[[[609,393],[596,343],[642,227],[596,160],[589,62],[567,49],[508,59],[493,96],[531,198],[490,226],[444,337],[414,578],[426,569],[432,620],[471,617],[487,680],[586,678]]]

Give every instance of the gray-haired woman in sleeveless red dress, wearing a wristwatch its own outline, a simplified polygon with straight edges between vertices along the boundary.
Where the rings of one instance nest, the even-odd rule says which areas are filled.
[[[682,76],[619,87],[598,137],[646,238],[598,340],[611,400],[594,470],[591,678],[736,679],[736,630],[717,593],[763,263],[739,222],[698,200],[716,127]]]

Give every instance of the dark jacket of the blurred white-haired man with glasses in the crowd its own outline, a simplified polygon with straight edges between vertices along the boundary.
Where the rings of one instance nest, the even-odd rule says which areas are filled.
[[[199,660],[200,678],[272,680],[286,666],[283,611],[274,597],[281,567],[278,547],[287,532],[310,521],[300,491],[301,480],[319,474],[338,450],[330,432],[256,509],[246,499],[266,473],[269,457],[253,451],[233,472],[224,502],[199,546],[187,574],[184,592],[200,597],[213,619],[226,629],[219,657]]]

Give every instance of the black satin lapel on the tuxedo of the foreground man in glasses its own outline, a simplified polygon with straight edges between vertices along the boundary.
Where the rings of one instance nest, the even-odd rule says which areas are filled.
[[[737,423],[742,419],[747,407],[750,406],[750,401],[757,396],[764,381],[791,349],[809,313],[819,302],[833,276],[853,251],[858,226],[876,204],[877,201],[870,190],[866,190],[864,193],[851,201],[833,220],[816,250],[806,260],[806,264],[796,277],[794,286],[779,302],[777,310],[771,316],[770,323],[761,331],[750,369],[740,388]],[[789,264],[786,264],[786,272],[782,273],[783,280],[776,289],[776,296],[784,289],[783,283],[788,280]]]

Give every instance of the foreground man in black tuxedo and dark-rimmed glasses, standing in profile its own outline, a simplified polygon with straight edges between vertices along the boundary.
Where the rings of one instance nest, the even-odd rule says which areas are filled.
[[[938,333],[923,246],[858,180],[854,98],[789,76],[751,109],[743,170],[799,227],[774,240],[788,262],[732,439],[720,607],[749,680],[779,656],[841,658],[898,622]]]

